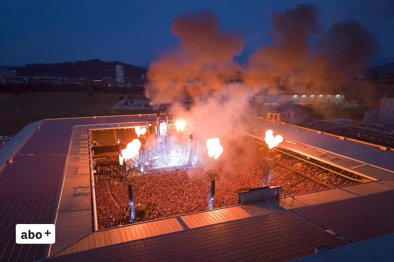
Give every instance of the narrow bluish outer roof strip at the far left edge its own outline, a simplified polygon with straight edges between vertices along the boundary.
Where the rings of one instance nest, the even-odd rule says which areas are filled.
[[[43,122],[43,120],[30,123],[20,130],[15,137],[0,148],[0,168],[11,158],[18,148],[32,135],[35,129]]]

